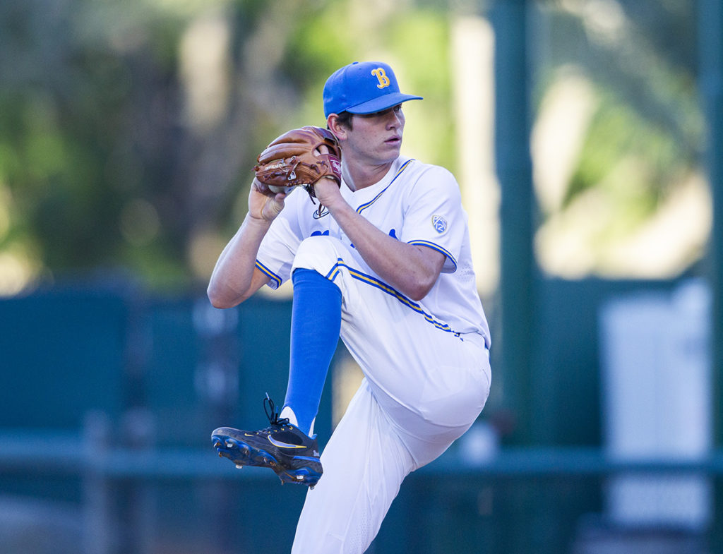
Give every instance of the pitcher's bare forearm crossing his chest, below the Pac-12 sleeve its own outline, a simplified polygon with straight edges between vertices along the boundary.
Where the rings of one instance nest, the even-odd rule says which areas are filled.
[[[390,237],[348,204],[335,207],[332,215],[369,267],[403,295],[422,300],[435,285],[444,263],[442,254]]]

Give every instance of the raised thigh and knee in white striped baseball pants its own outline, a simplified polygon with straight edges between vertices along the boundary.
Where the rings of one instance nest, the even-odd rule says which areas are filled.
[[[466,430],[484,406],[487,352],[361,269],[358,256],[338,239],[317,236],[301,243],[294,267],[315,269],[340,288],[341,338],[382,407],[404,430],[426,438],[440,433],[447,441]]]

